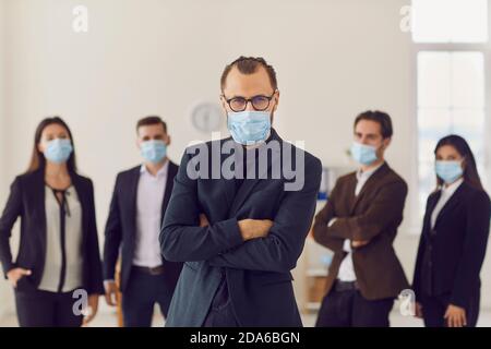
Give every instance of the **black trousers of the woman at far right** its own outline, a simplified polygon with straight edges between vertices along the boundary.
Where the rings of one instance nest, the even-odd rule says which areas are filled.
[[[446,327],[445,315],[450,303],[450,294],[426,296],[421,294],[419,300],[422,305],[424,326],[427,327]],[[467,327],[476,327],[479,317],[480,292],[469,299],[469,303],[465,306]]]

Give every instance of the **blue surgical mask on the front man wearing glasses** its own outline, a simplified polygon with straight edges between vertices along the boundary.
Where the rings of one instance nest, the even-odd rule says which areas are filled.
[[[242,145],[263,142],[271,131],[271,113],[250,110],[229,112],[228,130],[233,141]]]

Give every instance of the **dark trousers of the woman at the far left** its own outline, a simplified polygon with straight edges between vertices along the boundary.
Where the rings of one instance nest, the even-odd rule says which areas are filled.
[[[15,305],[21,327],[80,327],[83,315],[75,315],[77,301],[73,292],[56,293],[41,290],[15,291]]]

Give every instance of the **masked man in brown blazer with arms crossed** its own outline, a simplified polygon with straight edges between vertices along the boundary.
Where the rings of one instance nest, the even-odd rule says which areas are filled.
[[[357,117],[351,155],[360,169],[339,178],[315,217],[315,241],[334,252],[319,327],[388,326],[394,299],[409,288],[393,249],[407,185],[384,160],[392,134],[387,113]]]

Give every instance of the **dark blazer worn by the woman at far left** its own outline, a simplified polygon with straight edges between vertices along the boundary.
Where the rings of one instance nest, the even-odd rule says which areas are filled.
[[[94,186],[88,178],[77,173],[70,173],[70,177],[82,206],[83,285],[81,286],[89,294],[104,294]],[[0,261],[4,274],[14,267],[32,270],[32,275],[21,278],[17,291],[37,290],[43,277],[46,258],[45,185],[44,168],[17,176],[11,185],[10,196],[0,218]],[[21,241],[14,262],[9,240],[19,217],[21,217]]]

